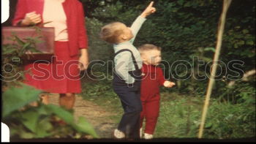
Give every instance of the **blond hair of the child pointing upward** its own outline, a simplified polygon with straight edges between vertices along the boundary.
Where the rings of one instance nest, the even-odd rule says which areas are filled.
[[[118,43],[118,37],[123,33],[123,29],[120,28],[120,24],[124,23],[113,22],[103,26],[99,34],[100,38],[112,44]]]

